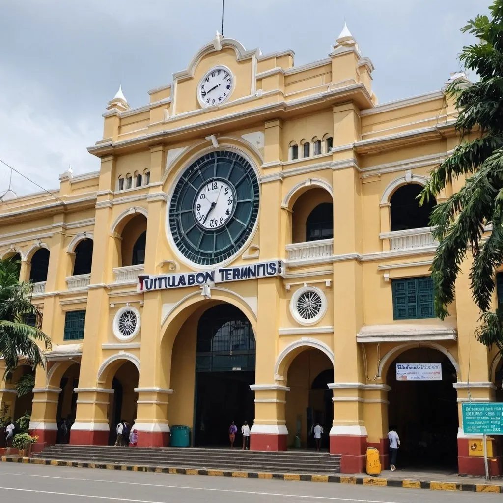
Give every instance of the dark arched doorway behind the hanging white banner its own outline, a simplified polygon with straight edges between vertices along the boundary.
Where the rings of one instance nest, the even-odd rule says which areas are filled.
[[[441,363],[441,380],[397,380],[398,363]],[[386,383],[389,429],[400,437],[402,467],[457,469],[458,406],[456,369],[440,351],[413,348],[390,365]]]

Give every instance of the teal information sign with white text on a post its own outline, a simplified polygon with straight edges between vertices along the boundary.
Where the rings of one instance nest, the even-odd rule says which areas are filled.
[[[463,403],[465,434],[503,435],[503,403]]]

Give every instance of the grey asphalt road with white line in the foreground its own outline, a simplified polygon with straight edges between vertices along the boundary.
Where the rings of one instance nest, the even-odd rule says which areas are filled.
[[[0,494],[9,503],[501,503],[501,494],[21,463],[0,463]]]

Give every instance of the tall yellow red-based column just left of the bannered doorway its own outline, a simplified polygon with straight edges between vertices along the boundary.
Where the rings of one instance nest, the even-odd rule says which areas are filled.
[[[360,136],[359,111],[352,103],[333,108],[333,255],[354,255],[362,247],[361,181],[352,145]],[[339,236],[340,238],[337,238]],[[367,430],[363,388],[366,377],[356,334],[363,325],[363,271],[357,257],[333,264],[334,333],[333,425],[330,453],[340,454],[341,471],[364,470]]]

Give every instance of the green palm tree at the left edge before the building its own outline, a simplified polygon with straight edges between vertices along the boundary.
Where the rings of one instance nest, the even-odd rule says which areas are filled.
[[[0,357],[4,359],[5,375],[18,366],[19,358],[25,358],[35,369],[44,367],[45,349],[51,342],[40,330],[42,314],[31,303],[32,283],[19,281],[19,265],[9,259],[0,261]],[[26,323],[35,318],[35,326]]]

